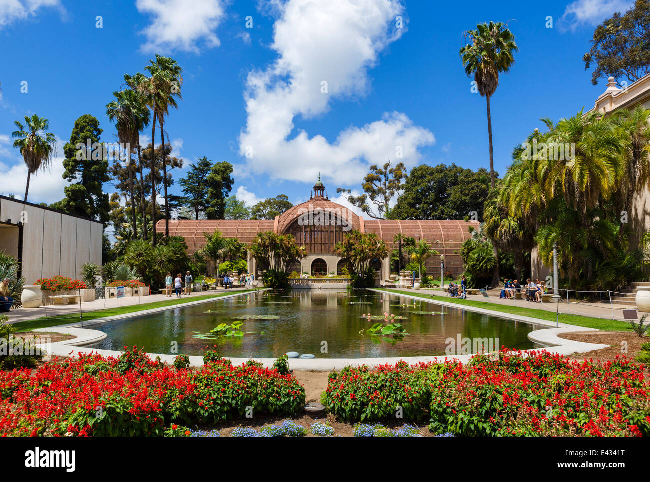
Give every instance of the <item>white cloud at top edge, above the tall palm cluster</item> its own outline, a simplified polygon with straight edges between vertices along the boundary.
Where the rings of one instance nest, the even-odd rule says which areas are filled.
[[[224,0],[137,0],[142,14],[151,14],[153,22],[142,34],[147,42],[142,51],[186,51],[200,53],[199,45],[218,47],[216,29],[224,19]]]

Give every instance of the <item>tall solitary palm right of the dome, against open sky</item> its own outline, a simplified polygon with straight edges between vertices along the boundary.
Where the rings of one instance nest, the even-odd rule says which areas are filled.
[[[502,22],[479,23],[476,30],[465,32],[467,45],[460,49],[463,66],[474,81],[481,97],[487,100],[487,134],[489,136],[490,184],[495,187],[494,156],[492,148],[492,114],[490,97],[499,87],[499,73],[507,73],[515,63],[514,53],[519,51],[515,36]]]

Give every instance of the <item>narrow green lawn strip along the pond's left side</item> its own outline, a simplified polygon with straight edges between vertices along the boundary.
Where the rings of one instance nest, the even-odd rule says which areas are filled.
[[[224,292],[220,294],[209,294],[203,296],[189,296],[181,299],[169,299],[165,301],[156,301],[155,303],[146,303],[145,305],[133,305],[121,308],[109,308],[105,310],[89,311],[83,314],[83,320],[90,322],[98,318],[105,318],[107,316],[117,316],[120,314],[136,313],[138,311],[153,310],[155,308],[169,307],[174,305],[185,305],[185,303],[192,303],[193,301],[201,301],[202,299],[216,299],[223,296],[239,293],[252,293],[263,288],[253,288],[250,290],[242,290],[237,292]],[[66,314],[66,316],[51,316],[49,318],[35,318],[29,322],[14,323],[19,331],[32,331],[38,328],[49,328],[52,326],[68,325],[69,323],[78,323],[79,313]]]

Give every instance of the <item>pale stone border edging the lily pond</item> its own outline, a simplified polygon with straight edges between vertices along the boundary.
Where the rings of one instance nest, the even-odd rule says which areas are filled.
[[[93,324],[104,323],[110,320],[119,320],[122,318],[131,318],[133,316],[140,316],[141,314],[152,314],[161,311],[168,311],[171,309],[182,308],[186,306],[199,305],[202,303],[211,303],[213,301],[220,301],[222,299],[235,298],[237,296],[244,296],[248,294],[264,292],[269,289],[270,288],[266,288],[265,290],[256,290],[255,292],[235,293],[229,296],[222,296],[220,298],[204,299],[201,301],[195,301],[192,303],[183,303],[181,305],[174,305],[171,307],[162,307],[162,308],[156,308],[156,309],[151,309],[146,311],[138,311],[135,313],[129,313],[125,315],[110,316],[107,318],[98,318],[98,320],[92,320],[92,322],[88,322],[88,323],[93,323]],[[410,298],[415,301],[423,301],[425,303],[441,305],[441,306],[454,308],[454,309],[478,312],[490,316],[497,316],[499,318],[506,318],[518,322],[530,323],[532,325],[551,327],[549,329],[540,329],[528,333],[528,338],[533,342],[550,346],[551,348],[546,349],[546,351],[549,351],[549,353],[557,353],[559,355],[573,355],[573,353],[586,353],[587,351],[609,348],[609,345],[575,342],[572,340],[565,340],[564,338],[558,337],[560,333],[573,333],[577,331],[599,331],[594,328],[577,327],[574,325],[567,325],[565,323],[560,323],[560,328],[556,328],[555,323],[547,322],[545,320],[538,320],[537,318],[529,318],[528,316],[506,314],[498,311],[491,311],[491,310],[486,310],[486,309],[476,308],[476,307],[463,306],[462,308],[459,308],[459,305],[454,305],[454,303],[445,303],[445,301],[437,301],[435,299],[428,300],[428,299],[418,298],[417,296],[395,294],[391,292],[385,292],[385,291],[374,290],[374,289],[371,289],[370,291],[381,293],[381,294],[389,294],[389,295],[392,294],[393,296],[401,296],[403,298]],[[122,354],[122,352],[120,351],[79,348],[83,345],[93,344],[107,338],[107,335],[99,330],[79,328],[79,323],[73,323],[71,325],[62,325],[58,327],[39,328],[34,331],[62,333],[64,335],[72,335],[77,337],[72,340],[64,340],[62,342],[53,343],[51,346],[51,350],[52,350],[52,355],[54,356],[73,357],[73,356],[79,356],[88,353],[98,353],[103,357],[119,357]],[[535,351],[535,350],[525,350],[524,353],[529,353],[530,351]],[[156,357],[160,357],[161,361],[163,362],[172,364],[174,363],[175,355],[149,353],[149,358],[151,360],[155,360]],[[471,357],[473,357],[473,355],[459,355],[456,357],[437,356],[437,357],[402,357],[402,358],[398,357],[398,358],[290,359],[289,368],[291,368],[291,370],[331,372],[333,370],[342,370],[346,366],[368,365],[374,367],[383,364],[395,364],[400,360],[405,361],[409,364],[416,364],[419,362],[444,363],[445,361],[452,361],[452,360],[457,360],[466,363],[471,359]],[[189,358],[190,358],[191,366],[194,367],[203,366],[202,357],[192,356]],[[240,365],[242,363],[247,362],[249,359],[230,358],[230,360],[233,362],[233,365]],[[266,368],[272,368],[273,363],[276,361],[276,359],[274,358],[262,358],[262,359],[255,359],[255,360],[263,363]]]

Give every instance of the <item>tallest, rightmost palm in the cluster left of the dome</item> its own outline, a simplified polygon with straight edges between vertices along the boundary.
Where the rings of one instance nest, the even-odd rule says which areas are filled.
[[[156,120],[159,121],[162,137],[162,184],[164,186],[165,201],[165,237],[169,236],[169,199],[167,194],[167,160],[164,147],[164,118],[169,114],[169,108],[178,108],[174,97],[181,97],[181,84],[183,83],[183,69],[170,57],[156,55],[156,61],[149,60],[149,66],[145,70],[149,72],[148,92],[150,95],[150,107],[153,110],[153,132],[151,134],[151,166],[155,166],[155,129]],[[154,190],[155,192],[155,190]],[[155,194],[153,195],[155,199]],[[154,202],[155,204],[155,202]],[[154,220],[155,221],[155,220]],[[154,222],[154,246],[155,246],[155,222]]]

